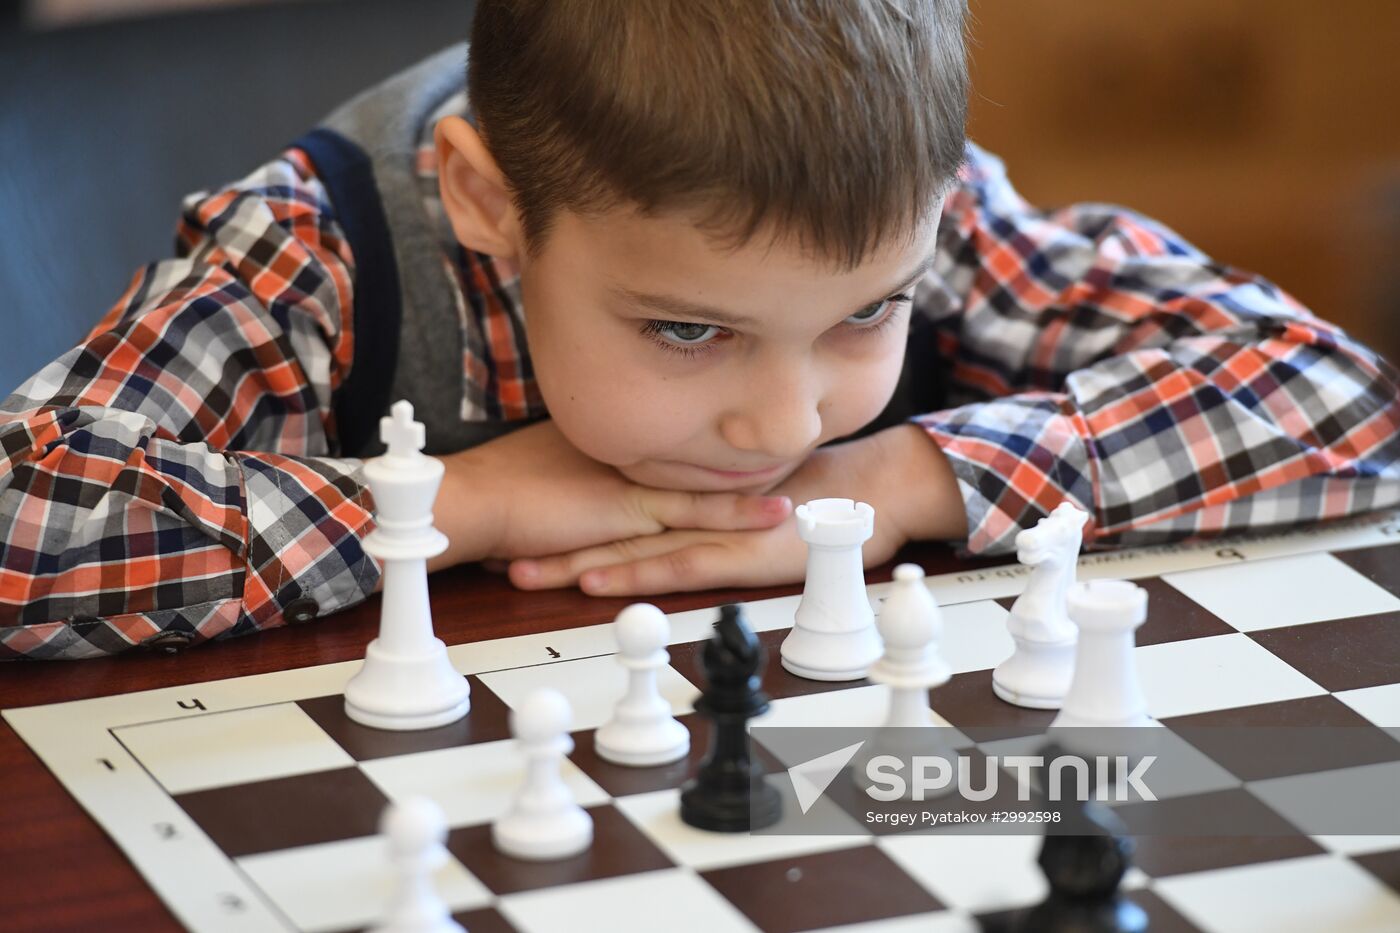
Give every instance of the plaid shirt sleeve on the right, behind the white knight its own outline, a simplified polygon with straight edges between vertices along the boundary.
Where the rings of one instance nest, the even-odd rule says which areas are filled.
[[[1400,378],[1270,282],[1106,205],[1033,210],[969,147],[916,294],[956,405],[967,549],[1008,552],[1060,502],[1091,546],[1291,525],[1400,503]]]

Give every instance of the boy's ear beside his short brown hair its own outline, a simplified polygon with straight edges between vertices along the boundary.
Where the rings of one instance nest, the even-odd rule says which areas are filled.
[[[519,223],[505,175],[476,127],[445,116],[433,129],[438,189],[458,242],[501,259],[519,251]]]

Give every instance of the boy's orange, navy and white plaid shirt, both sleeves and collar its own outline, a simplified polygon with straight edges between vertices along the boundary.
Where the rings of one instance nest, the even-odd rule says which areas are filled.
[[[419,175],[461,294],[462,417],[540,416],[518,280],[454,241],[431,123]],[[176,256],[0,405],[0,657],[235,636],[374,590],[372,502],[332,416],[354,273],[297,148],[186,199]],[[907,366],[941,367],[952,405],[916,420],[953,464],[973,552],[1065,499],[1091,545],[1400,502],[1394,368],[1137,214],[1033,210],[976,147],[913,333],[937,360]]]

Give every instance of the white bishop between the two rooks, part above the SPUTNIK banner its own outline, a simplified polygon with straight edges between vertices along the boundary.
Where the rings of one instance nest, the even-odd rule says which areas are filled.
[[[928,726],[928,691],[946,684],[952,671],[938,654],[942,612],[924,586],[916,563],[895,567],[895,591],[879,614],[885,654],[871,665],[871,679],[889,686],[888,728]]]

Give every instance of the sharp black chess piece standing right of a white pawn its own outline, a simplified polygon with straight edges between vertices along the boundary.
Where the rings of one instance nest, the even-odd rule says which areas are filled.
[[[783,815],[783,799],[749,745],[749,720],[769,707],[759,679],[764,654],[739,607],[721,607],[704,646],[706,689],[696,700],[696,712],[713,724],[710,749],[680,790],[680,818],[697,829],[745,832]]]

